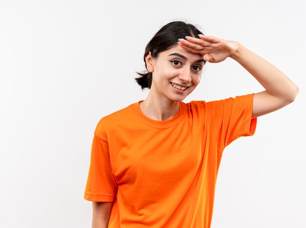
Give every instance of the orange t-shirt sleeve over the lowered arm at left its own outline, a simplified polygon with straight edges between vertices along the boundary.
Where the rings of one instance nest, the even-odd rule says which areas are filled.
[[[94,202],[112,202],[116,190],[109,159],[109,144],[95,132],[84,198]]]

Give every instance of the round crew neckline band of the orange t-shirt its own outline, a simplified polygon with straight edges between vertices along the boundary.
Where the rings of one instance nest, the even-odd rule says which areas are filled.
[[[179,102],[179,104],[178,104],[179,105],[179,111],[174,117],[170,118],[169,120],[165,120],[165,121],[153,120],[153,119],[147,117],[141,111],[139,103],[142,102],[142,101],[144,101],[144,100],[141,100],[141,101],[138,101],[138,102],[132,104],[134,114],[136,115],[136,117],[139,121],[141,121],[144,124],[150,125],[152,127],[168,128],[168,127],[174,126],[174,125],[178,124],[184,116],[183,104],[182,104],[182,102]]]

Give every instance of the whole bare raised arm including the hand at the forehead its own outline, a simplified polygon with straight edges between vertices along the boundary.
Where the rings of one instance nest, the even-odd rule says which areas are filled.
[[[294,101],[299,88],[279,69],[246,49],[237,41],[200,35],[186,37],[179,45],[187,51],[202,54],[207,62],[221,62],[231,57],[240,63],[265,91],[254,94],[252,118],[280,109]]]

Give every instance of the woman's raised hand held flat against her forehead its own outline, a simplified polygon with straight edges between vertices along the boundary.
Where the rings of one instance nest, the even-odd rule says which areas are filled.
[[[179,39],[178,45],[192,53],[204,55],[207,62],[222,62],[235,54],[237,41],[222,40],[217,37],[199,35],[198,38],[186,37]]]

